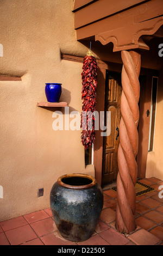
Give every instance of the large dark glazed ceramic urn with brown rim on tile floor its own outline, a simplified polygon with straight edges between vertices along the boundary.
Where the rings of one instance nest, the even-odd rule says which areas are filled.
[[[55,224],[66,240],[89,239],[101,215],[103,191],[90,175],[67,174],[54,183],[50,194]]]

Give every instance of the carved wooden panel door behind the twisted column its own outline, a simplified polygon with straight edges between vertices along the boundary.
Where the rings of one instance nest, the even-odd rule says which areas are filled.
[[[118,173],[117,150],[119,144],[118,128],[121,111],[121,74],[106,70],[105,80],[105,119],[106,111],[111,112],[111,132],[103,139],[102,185],[114,182]]]

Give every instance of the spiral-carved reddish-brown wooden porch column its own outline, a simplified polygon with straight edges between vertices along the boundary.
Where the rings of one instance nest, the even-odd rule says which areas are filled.
[[[140,54],[122,51],[122,97],[120,144],[118,147],[116,229],[129,234],[135,230],[136,155],[138,149]]]

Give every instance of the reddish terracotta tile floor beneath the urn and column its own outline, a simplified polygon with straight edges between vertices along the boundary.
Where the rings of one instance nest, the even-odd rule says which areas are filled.
[[[156,178],[139,180],[155,191],[137,197],[137,229],[122,235],[115,229],[116,192],[104,191],[104,206],[95,232],[84,242],[63,239],[53,221],[51,209],[40,210],[0,222],[0,245],[163,245],[163,198]],[[162,194],[162,193],[161,193]]]

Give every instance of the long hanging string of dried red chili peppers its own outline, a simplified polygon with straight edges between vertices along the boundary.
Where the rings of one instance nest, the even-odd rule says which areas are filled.
[[[84,57],[82,72],[82,144],[85,149],[89,149],[95,141],[95,116],[92,114],[96,110],[96,87],[97,87],[97,62],[90,50]]]

